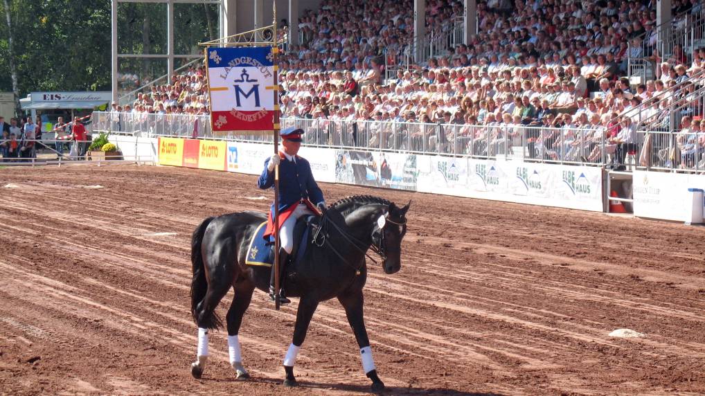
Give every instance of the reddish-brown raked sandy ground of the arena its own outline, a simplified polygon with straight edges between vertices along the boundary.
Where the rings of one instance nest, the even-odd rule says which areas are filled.
[[[396,394],[702,395],[704,229],[539,206],[322,185],[413,199],[402,270],[370,270],[366,321]],[[367,392],[343,309],[322,304],[281,385],[296,301],[256,292],[240,340],[212,333],[191,377],[190,234],[265,211],[255,177],[154,166],[0,169],[0,393],[291,395]],[[154,235],[155,233],[172,233]],[[224,316],[231,299],[221,302]],[[611,338],[630,328],[644,338]]]

